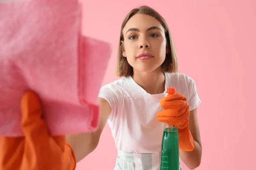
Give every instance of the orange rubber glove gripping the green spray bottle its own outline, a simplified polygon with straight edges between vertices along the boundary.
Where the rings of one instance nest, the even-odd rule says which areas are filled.
[[[179,148],[185,151],[195,149],[195,141],[189,130],[189,104],[186,97],[178,94],[175,88],[168,88],[169,95],[160,100],[160,105],[164,109],[157,113],[157,120],[175,125],[179,130]]]

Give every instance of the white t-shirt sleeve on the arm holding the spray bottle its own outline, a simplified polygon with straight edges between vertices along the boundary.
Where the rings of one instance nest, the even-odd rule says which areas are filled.
[[[195,81],[188,77],[188,89],[189,89],[189,111],[194,110],[195,108],[198,107],[198,105],[201,103],[201,100],[199,99],[197,90],[196,90],[196,85]]]

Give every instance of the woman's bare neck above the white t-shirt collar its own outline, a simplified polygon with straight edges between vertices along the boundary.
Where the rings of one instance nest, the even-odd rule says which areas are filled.
[[[148,94],[161,94],[165,91],[165,75],[161,69],[151,72],[134,70],[132,78]]]

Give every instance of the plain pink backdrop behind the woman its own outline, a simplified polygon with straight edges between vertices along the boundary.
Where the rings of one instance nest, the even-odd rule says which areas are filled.
[[[195,80],[202,101],[198,119],[203,156],[197,170],[254,169],[255,1],[88,0],[83,3],[84,34],[113,45],[104,84],[117,79],[116,51],[125,15],[140,5],[155,8],[169,24],[179,72]],[[99,146],[77,164],[76,170],[113,170],[115,160],[115,144],[106,125]],[[182,166],[188,170],[183,163]]]

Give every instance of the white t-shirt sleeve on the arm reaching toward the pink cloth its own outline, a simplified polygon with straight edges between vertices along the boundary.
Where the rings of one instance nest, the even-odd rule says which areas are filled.
[[[108,85],[102,86],[102,88],[99,90],[98,97],[105,99],[108,102],[111,107],[111,113],[116,112],[118,99],[113,88],[109,87]]]

